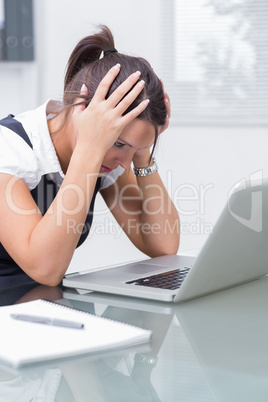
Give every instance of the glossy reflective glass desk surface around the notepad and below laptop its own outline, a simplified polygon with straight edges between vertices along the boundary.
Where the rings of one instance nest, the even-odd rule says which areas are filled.
[[[1,402],[268,401],[267,277],[177,305],[44,287],[17,302],[45,291],[68,306],[150,328],[152,341],[17,372],[2,365]]]

